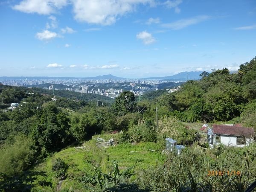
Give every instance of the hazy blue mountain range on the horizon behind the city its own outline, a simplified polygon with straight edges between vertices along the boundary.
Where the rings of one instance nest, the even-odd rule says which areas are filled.
[[[147,78],[140,78],[140,80],[145,80],[145,79],[158,79],[158,80],[168,80],[168,81],[186,81],[187,79],[189,80],[197,80],[200,79],[200,74],[202,71],[185,71],[178,73],[173,76],[165,76],[165,77],[147,77]],[[113,79],[113,80],[124,80],[128,78],[123,78],[123,77],[116,77],[111,74],[108,75],[103,75],[103,76],[96,76],[96,77],[0,77],[0,79]],[[132,79],[137,79],[137,78],[132,78]]]

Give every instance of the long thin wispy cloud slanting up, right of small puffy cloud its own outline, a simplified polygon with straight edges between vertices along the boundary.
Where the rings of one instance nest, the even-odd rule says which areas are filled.
[[[209,20],[210,18],[211,17],[208,15],[200,15],[200,16],[192,17],[192,18],[188,18],[188,19],[177,20],[172,23],[163,23],[161,26],[165,27],[165,28],[173,29],[173,30],[178,30],[178,29],[183,29],[190,25],[194,25],[194,24],[203,22],[205,20]]]

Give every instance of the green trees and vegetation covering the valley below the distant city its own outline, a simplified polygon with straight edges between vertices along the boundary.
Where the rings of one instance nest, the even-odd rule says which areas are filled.
[[[241,64],[238,73],[224,68],[200,76],[173,93],[152,91],[139,101],[129,91],[114,101],[55,91],[53,101],[46,90],[0,84],[2,103],[20,103],[0,111],[0,191],[245,191],[256,178],[256,145],[198,148],[201,134],[183,122],[242,123],[256,131],[256,57]],[[145,163],[138,157],[131,166],[119,167],[118,160],[104,155],[114,151],[102,152],[94,141],[94,135],[107,137],[112,131],[119,131],[111,136],[118,141],[119,156],[133,143],[131,151],[146,149],[159,163],[136,166]],[[166,137],[186,145],[184,153],[161,154]],[[90,147],[81,153],[81,167],[68,161],[71,156],[58,157],[61,150],[72,154],[81,145]],[[35,171],[46,162],[47,172]],[[220,169],[240,175],[207,177],[207,170]],[[60,181],[67,185],[59,189]]]

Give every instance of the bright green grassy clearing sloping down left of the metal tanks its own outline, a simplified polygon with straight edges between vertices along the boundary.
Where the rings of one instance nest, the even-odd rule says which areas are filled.
[[[101,135],[102,138],[111,138],[111,135]],[[114,137],[114,136],[113,136]],[[82,190],[83,186],[78,179],[84,174],[93,174],[94,168],[100,166],[104,173],[111,171],[113,160],[119,163],[119,169],[134,167],[136,172],[138,169],[146,168],[150,165],[163,164],[166,156],[161,153],[161,146],[156,143],[139,143],[138,145],[120,144],[109,148],[99,148],[96,146],[96,137],[85,142],[85,148],[76,149],[70,147],[52,157],[47,158],[43,163],[38,164],[32,171],[47,172],[48,176],[38,175],[34,184],[34,191],[55,191],[58,180],[51,171],[54,160],[60,157],[68,164],[67,178],[61,183],[61,189]],[[155,151],[150,151],[155,150]],[[131,152],[134,151],[134,152]],[[133,177],[134,179],[135,177]],[[52,185],[52,189],[46,186],[40,186],[40,182],[48,182]],[[60,186],[60,185],[59,185]],[[33,191],[32,190],[32,191]],[[83,190],[82,190],[83,191]]]

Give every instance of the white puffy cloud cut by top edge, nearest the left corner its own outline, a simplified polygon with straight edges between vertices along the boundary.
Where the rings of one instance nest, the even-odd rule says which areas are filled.
[[[12,9],[25,13],[49,15],[66,5],[67,0],[22,0],[19,4],[12,6]]]

